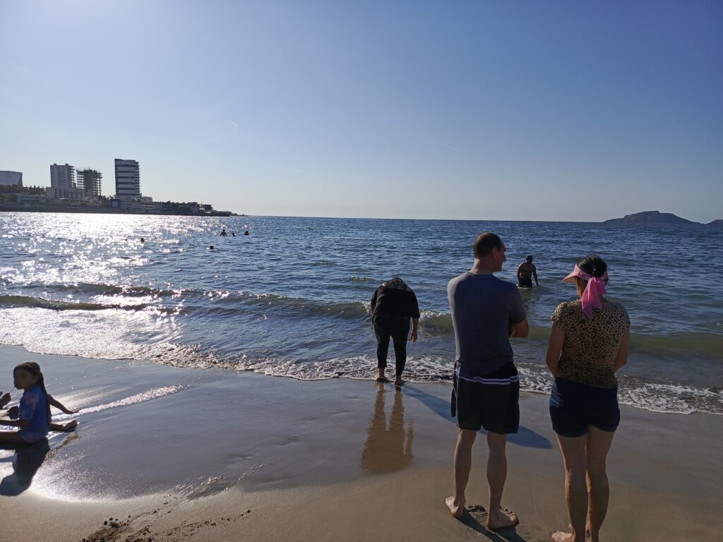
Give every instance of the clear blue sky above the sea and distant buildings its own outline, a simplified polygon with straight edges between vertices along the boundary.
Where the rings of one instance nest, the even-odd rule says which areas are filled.
[[[0,170],[247,215],[723,218],[719,0],[0,0]]]

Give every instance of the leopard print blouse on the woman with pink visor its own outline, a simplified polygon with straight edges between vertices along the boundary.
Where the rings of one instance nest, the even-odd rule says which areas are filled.
[[[552,322],[565,332],[555,377],[592,387],[617,386],[612,368],[620,341],[630,329],[628,311],[622,304],[604,301],[602,309],[593,309],[589,319],[579,299],[568,301],[557,306]]]

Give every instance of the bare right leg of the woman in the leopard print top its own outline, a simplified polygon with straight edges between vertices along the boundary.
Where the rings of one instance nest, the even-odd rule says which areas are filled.
[[[585,443],[587,456],[588,522],[589,542],[598,542],[600,527],[607,514],[610,488],[607,483],[607,452],[609,452],[614,431],[601,431],[590,427]]]

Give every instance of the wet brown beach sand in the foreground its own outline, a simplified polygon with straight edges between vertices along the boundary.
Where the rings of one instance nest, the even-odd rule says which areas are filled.
[[[0,389],[21,361],[81,409],[80,426],[49,449],[0,450],[1,541],[531,542],[567,524],[544,395],[523,395],[508,444],[502,503],[521,524],[495,535],[479,508],[457,521],[444,506],[457,432],[448,384],[396,392],[0,347]],[[603,539],[722,540],[723,417],[622,414]],[[480,434],[469,507],[487,506],[485,460]]]

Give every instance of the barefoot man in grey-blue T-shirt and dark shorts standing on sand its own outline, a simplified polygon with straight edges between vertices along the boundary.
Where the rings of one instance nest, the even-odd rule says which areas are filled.
[[[509,337],[527,337],[529,326],[518,289],[493,275],[502,270],[505,250],[495,233],[481,233],[474,241],[471,270],[447,286],[457,343],[452,416],[457,417],[459,434],[454,454],[455,493],[445,504],[453,517],[461,519],[472,445],[477,431],[484,427],[489,449],[489,530],[519,522],[514,512],[503,510],[500,504],[507,478],[507,434],[516,433],[520,422],[520,382]]]

